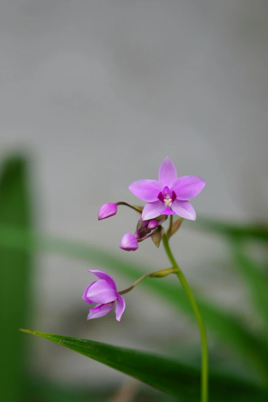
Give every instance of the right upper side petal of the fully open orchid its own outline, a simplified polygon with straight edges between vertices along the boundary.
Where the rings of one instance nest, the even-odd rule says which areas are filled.
[[[196,197],[205,187],[206,182],[198,176],[182,176],[173,184],[173,190],[179,200]]]

